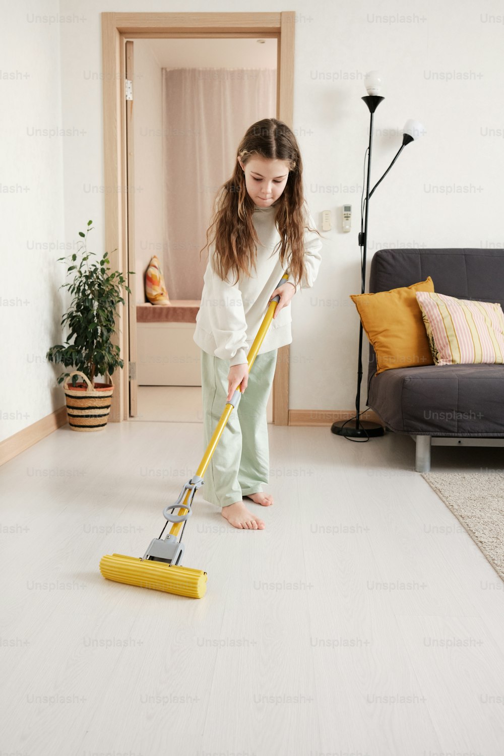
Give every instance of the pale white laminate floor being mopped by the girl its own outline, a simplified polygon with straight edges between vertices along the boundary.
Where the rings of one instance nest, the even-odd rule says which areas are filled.
[[[2,754],[502,756],[504,584],[413,441],[269,432],[264,531],[196,494],[202,600],[98,569],[159,535],[201,423],[63,426],[0,469]],[[502,469],[499,449],[432,456]]]

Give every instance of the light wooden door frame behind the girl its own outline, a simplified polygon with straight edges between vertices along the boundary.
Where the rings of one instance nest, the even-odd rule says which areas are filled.
[[[104,95],[105,249],[110,268],[128,270],[126,187],[125,39],[277,39],[277,118],[292,129],[295,11],[280,13],[102,13]],[[129,302],[119,305],[113,343],[124,368],[116,371],[110,422],[129,418]],[[278,350],[273,383],[273,421],[289,424],[289,345]]]

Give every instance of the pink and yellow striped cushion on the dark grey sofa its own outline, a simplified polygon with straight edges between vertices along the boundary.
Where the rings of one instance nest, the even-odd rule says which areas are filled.
[[[416,292],[434,363],[504,362],[504,313],[494,302]]]

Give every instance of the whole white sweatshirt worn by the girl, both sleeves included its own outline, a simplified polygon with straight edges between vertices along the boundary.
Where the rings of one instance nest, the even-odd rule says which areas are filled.
[[[317,228],[305,205],[305,218],[311,228]],[[215,243],[209,245],[209,262],[203,277],[201,304],[196,314],[196,329],[193,339],[196,344],[230,365],[247,361],[247,354],[266,314],[269,299],[277,288],[283,271],[280,263],[280,248],[274,256],[271,253],[280,241],[275,223],[276,206],[256,207],[253,222],[261,246],[257,248],[256,270],[252,267],[250,276],[240,277],[234,285],[236,274],[229,272],[222,280],[215,270]],[[308,215],[307,215],[308,214]],[[314,231],[305,228],[305,276],[301,289],[311,288],[317,278],[320,266],[322,241]],[[286,281],[292,281],[292,276]],[[286,283],[284,281],[284,283]],[[271,352],[292,342],[291,307],[283,307],[271,321],[258,354]]]

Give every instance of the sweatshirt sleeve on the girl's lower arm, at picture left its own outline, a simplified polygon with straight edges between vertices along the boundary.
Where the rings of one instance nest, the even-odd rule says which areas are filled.
[[[232,272],[222,280],[216,271],[215,246],[212,244],[205,272],[205,305],[216,344],[215,356],[229,360],[230,365],[237,365],[247,361],[247,323],[238,283],[230,283],[230,280],[233,280]]]

